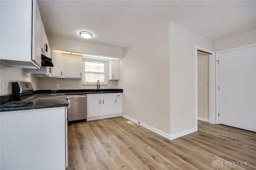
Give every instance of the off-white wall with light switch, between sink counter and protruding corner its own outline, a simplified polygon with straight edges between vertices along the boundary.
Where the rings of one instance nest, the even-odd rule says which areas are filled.
[[[143,115],[146,125],[170,136],[169,61],[166,24],[124,50],[117,87],[124,89],[123,115],[135,120]]]

